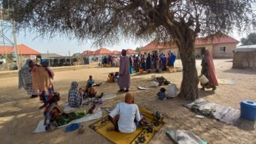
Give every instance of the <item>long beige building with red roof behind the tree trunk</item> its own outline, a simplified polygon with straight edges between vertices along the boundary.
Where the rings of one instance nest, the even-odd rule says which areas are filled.
[[[213,58],[233,58],[232,49],[236,48],[238,43],[239,41],[228,35],[209,39],[206,39],[205,37],[198,38],[195,41],[195,56],[196,58],[200,58],[202,56],[202,50],[206,49],[211,52]],[[177,58],[180,58],[177,45],[168,42],[156,43],[153,41],[142,47],[140,53],[145,55],[152,52],[167,54],[169,50],[171,50]]]

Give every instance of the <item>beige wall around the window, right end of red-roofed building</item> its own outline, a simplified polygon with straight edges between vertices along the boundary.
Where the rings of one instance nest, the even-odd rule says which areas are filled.
[[[236,48],[237,43],[230,43],[230,44],[218,44],[213,45],[213,58],[233,58],[233,48]],[[220,51],[220,48],[222,46],[226,47],[226,50],[224,52]]]

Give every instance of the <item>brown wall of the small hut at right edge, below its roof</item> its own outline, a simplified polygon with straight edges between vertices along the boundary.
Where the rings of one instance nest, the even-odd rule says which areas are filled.
[[[233,68],[235,69],[256,68],[256,51],[234,52]]]

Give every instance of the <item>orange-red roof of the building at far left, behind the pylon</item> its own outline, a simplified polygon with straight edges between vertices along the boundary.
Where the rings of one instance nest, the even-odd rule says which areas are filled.
[[[7,50],[7,54],[11,54],[11,52],[15,52],[13,46],[5,46],[5,48]],[[0,54],[5,54],[5,48],[4,48],[4,46],[0,46]],[[40,54],[40,52],[37,52],[36,50],[33,50],[32,48],[30,48],[24,44],[20,44],[20,45],[18,45],[18,54],[38,55],[38,54]]]

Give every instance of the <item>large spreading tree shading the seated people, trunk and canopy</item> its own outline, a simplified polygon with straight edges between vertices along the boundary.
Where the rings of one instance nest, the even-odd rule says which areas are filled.
[[[255,0],[13,0],[17,28],[41,35],[64,33],[115,43],[123,37],[175,43],[183,75],[179,96],[198,98],[194,42],[198,35],[229,33],[255,27]]]

